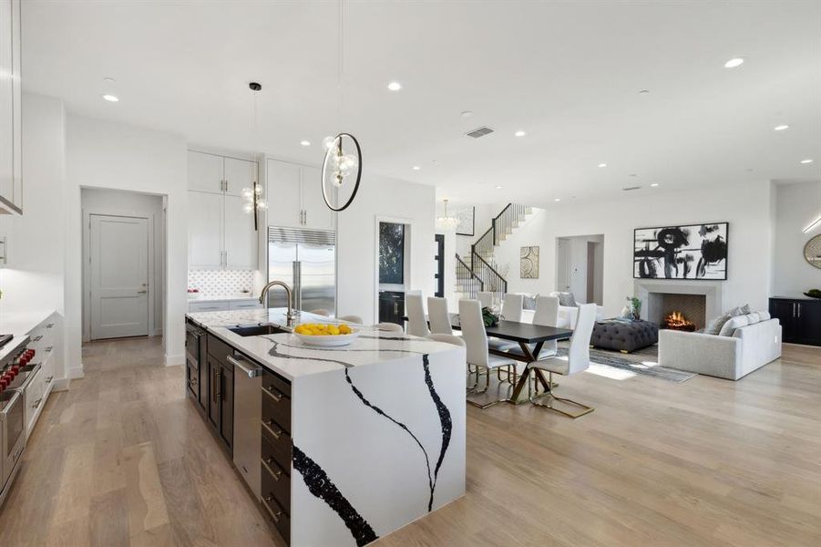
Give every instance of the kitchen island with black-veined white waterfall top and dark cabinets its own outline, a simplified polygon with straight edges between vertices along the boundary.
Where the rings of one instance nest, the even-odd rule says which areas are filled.
[[[284,312],[195,313],[186,323],[205,340],[188,352],[200,355],[191,398],[285,541],[365,545],[464,494],[465,349],[367,326],[350,346],[304,346]],[[329,322],[303,312],[295,325]],[[257,395],[229,385],[254,366]],[[252,464],[237,457],[249,412]]]

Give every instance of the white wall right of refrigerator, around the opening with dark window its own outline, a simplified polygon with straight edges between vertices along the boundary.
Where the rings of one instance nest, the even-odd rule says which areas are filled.
[[[406,290],[430,296],[434,284],[434,211],[432,186],[363,175],[354,203],[337,215],[337,313],[376,321],[376,221],[411,225],[411,272]]]

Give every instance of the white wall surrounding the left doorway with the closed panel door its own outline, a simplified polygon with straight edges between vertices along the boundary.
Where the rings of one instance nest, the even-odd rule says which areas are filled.
[[[139,191],[166,196],[166,288],[163,344],[167,365],[185,358],[188,309],[186,142],[178,135],[70,114],[67,117],[67,294],[66,325],[79,355],[82,213],[80,187]]]

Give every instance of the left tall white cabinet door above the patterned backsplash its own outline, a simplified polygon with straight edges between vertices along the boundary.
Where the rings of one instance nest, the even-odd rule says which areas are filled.
[[[218,193],[188,192],[190,270],[219,270],[222,267],[222,201],[223,197]]]

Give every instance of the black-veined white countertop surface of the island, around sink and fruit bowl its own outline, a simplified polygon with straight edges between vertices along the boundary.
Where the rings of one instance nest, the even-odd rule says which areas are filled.
[[[377,365],[411,355],[452,351],[454,346],[403,333],[379,331],[374,326],[355,325],[359,337],[349,346],[305,346],[296,335],[241,336],[228,326],[276,325],[287,327],[284,308],[202,312],[186,315],[196,324],[219,336],[242,353],[273,372],[295,379],[352,366]],[[336,319],[300,312],[294,325],[301,323],[344,323]]]

